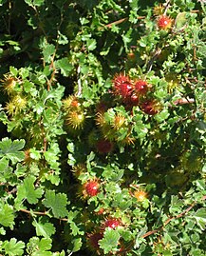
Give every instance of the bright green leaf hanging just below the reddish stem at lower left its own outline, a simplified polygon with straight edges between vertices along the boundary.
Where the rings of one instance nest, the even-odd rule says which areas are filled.
[[[56,231],[56,228],[53,226],[53,224],[43,223],[42,219],[40,219],[39,222],[34,220],[32,225],[36,228],[37,236],[44,236],[45,238],[49,238]]]

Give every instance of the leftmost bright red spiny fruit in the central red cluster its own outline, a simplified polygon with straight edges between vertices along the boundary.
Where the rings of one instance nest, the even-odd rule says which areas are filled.
[[[122,96],[123,99],[127,99],[131,96],[133,86],[128,76],[118,74],[113,80],[114,93]]]

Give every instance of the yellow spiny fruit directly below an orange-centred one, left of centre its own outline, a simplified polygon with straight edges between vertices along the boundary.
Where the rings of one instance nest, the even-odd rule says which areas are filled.
[[[83,128],[85,115],[82,110],[72,110],[66,115],[66,124],[71,128]]]

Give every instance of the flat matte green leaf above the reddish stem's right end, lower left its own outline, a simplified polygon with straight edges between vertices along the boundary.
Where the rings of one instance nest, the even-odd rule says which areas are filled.
[[[66,209],[67,197],[64,193],[55,194],[55,191],[47,190],[43,205],[51,208],[56,218],[63,218],[68,214]]]

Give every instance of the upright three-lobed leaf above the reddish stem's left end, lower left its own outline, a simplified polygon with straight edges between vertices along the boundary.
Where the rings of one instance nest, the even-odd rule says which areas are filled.
[[[37,204],[38,199],[42,197],[43,189],[34,187],[36,178],[34,176],[28,176],[23,184],[17,187],[17,202],[28,200],[29,204]]]

